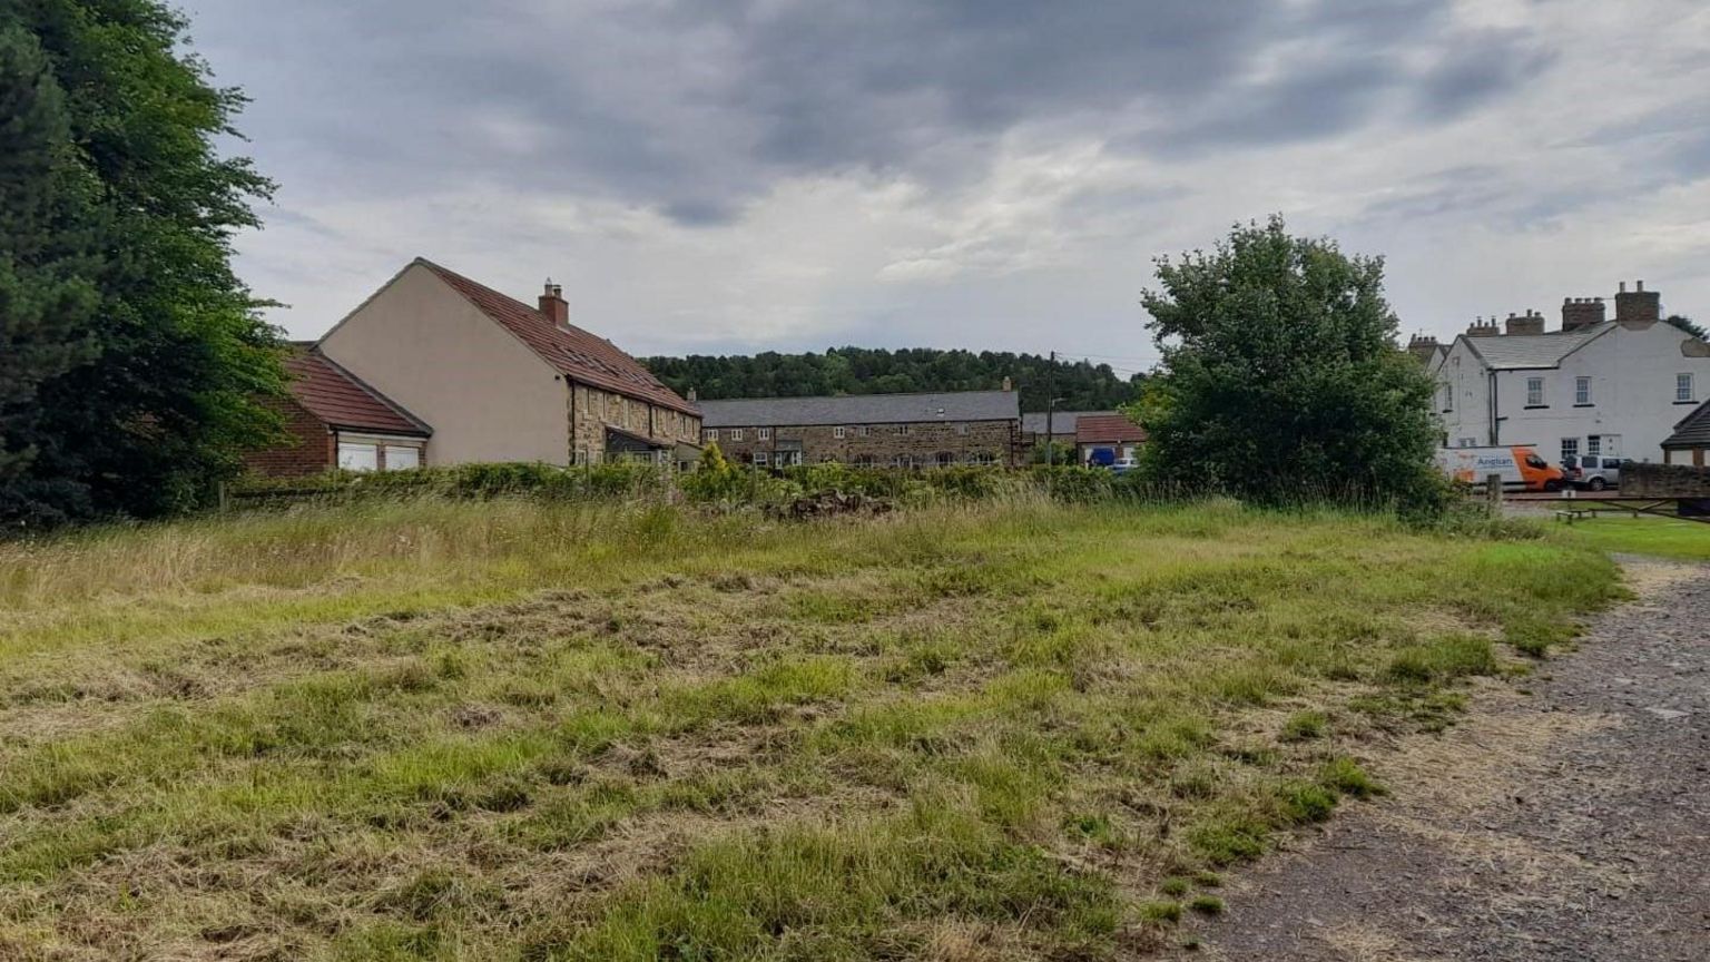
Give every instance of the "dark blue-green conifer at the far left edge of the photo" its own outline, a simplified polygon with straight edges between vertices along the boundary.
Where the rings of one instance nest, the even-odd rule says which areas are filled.
[[[36,460],[38,390],[92,356],[92,183],[36,38],[0,24],[0,484]]]

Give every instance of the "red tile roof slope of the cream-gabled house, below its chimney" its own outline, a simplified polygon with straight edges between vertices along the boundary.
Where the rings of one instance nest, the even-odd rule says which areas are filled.
[[[481,313],[499,322],[566,378],[648,401],[672,411],[682,411],[684,414],[699,414],[693,404],[660,383],[657,377],[634,358],[614,347],[610,341],[575,325],[559,327],[552,324],[552,318],[516,298],[501,294],[486,284],[477,284],[431,260],[417,258],[417,264],[438,274],[439,279],[463,294],[469,303],[475,305]]]

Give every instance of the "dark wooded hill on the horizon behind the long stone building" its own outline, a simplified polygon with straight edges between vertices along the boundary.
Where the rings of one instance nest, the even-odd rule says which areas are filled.
[[[1011,378],[1023,411],[1045,411],[1052,395],[1062,411],[1110,411],[1141,395],[1144,375],[1120,373],[1088,359],[1055,365],[1043,354],[937,347],[831,347],[824,354],[764,351],[742,356],[643,358],[677,394],[703,401],[735,397],[816,397],[920,390],[997,390]]]

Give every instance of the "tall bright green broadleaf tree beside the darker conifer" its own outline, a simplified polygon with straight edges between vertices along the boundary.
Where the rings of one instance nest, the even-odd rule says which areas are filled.
[[[258,399],[280,389],[275,332],[231,269],[231,238],[272,190],[224,157],[243,96],[181,53],[185,21],[159,0],[0,0],[63,92],[72,188],[103,257],[79,274],[94,310],[62,312],[91,358],[36,387],[32,457],[0,514],[60,520],[195,507],[265,442]],[[10,248],[0,238],[0,248]]]

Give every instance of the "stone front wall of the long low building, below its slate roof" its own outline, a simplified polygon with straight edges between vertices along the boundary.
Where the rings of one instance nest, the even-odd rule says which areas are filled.
[[[734,430],[742,433],[740,440]],[[763,438],[768,430],[771,436]],[[949,455],[951,464],[990,464],[1012,466],[1016,462],[1016,442],[1021,426],[1016,421],[913,421],[906,425],[809,425],[809,426],[773,426],[773,428],[720,428],[718,448],[735,462],[747,464],[756,454],[764,452],[768,464],[776,464],[780,454],[787,454],[793,445],[780,442],[799,442],[802,464],[819,464],[840,460],[843,464],[872,464],[877,467],[894,466],[906,459],[910,467],[930,467],[939,464],[940,455]],[[841,431],[843,436],[838,436]],[[706,440],[713,440],[710,435]],[[705,443],[705,442],[703,442]]]

